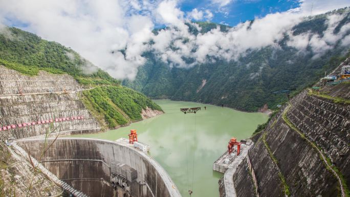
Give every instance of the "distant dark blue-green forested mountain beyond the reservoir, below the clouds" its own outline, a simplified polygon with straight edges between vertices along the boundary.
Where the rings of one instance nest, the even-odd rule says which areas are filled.
[[[334,14],[341,15],[343,19],[336,27],[328,27],[329,16]],[[293,36],[311,33],[315,37],[322,37],[326,31],[331,31],[340,36],[340,29],[349,23],[350,9],[340,9],[306,17],[292,28],[292,32]],[[193,35],[200,33],[195,27],[188,26]],[[202,33],[216,28],[211,23],[199,23],[199,26]],[[229,27],[220,26],[222,32],[228,29]],[[345,32],[342,37],[349,33]],[[300,52],[288,45],[290,36],[285,35],[278,47],[247,51],[237,61],[214,59],[214,62],[198,64],[190,69],[169,67],[154,52],[147,52],[144,54],[147,62],[139,68],[136,79],[125,80],[123,84],[152,98],[224,104],[244,111],[257,111],[265,103],[275,107],[287,98],[284,95],[271,96],[271,91],[292,87],[302,90],[324,75],[325,71],[332,71],[348,52],[348,46],[342,45],[341,39],[333,49],[326,50],[319,56],[310,46],[306,51]],[[173,48],[177,50],[176,47]],[[185,61],[191,63],[191,59]]]

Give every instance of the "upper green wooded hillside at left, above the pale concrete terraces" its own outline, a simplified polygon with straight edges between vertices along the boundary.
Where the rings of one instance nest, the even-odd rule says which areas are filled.
[[[68,73],[81,84],[120,83],[72,49],[17,28],[0,33],[0,64],[27,75],[36,75],[39,70]],[[86,68],[96,72],[85,74]]]

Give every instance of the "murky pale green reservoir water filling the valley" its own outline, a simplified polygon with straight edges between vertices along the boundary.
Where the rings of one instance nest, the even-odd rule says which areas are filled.
[[[258,124],[268,119],[262,113],[245,113],[208,104],[155,102],[163,108],[164,115],[117,130],[78,137],[117,140],[127,138],[130,129],[137,129],[139,141],[151,145],[150,156],[169,173],[184,197],[189,196],[188,189],[193,190],[192,197],[218,197],[218,180],[223,174],[212,170],[213,162],[224,153],[231,137],[246,139]],[[207,106],[207,110],[202,108],[196,114],[186,115],[179,110],[197,106]]]

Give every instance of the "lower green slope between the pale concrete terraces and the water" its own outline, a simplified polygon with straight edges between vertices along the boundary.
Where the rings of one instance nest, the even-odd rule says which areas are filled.
[[[162,108],[143,94],[123,86],[100,86],[83,91],[82,101],[97,120],[108,128],[141,120],[144,108],[162,111]]]

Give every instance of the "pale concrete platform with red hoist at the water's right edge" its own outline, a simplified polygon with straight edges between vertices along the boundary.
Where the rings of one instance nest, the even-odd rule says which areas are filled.
[[[240,145],[240,152],[241,154],[246,148],[250,148],[250,145],[252,144],[251,140],[247,141],[241,141],[242,145]],[[246,151],[244,151],[246,152]],[[237,147],[235,146],[233,148],[233,151],[231,154],[229,154],[228,151],[226,151],[222,156],[220,156],[213,164],[213,170],[225,173],[225,171],[231,166],[230,164],[235,161],[235,158],[237,157]]]

